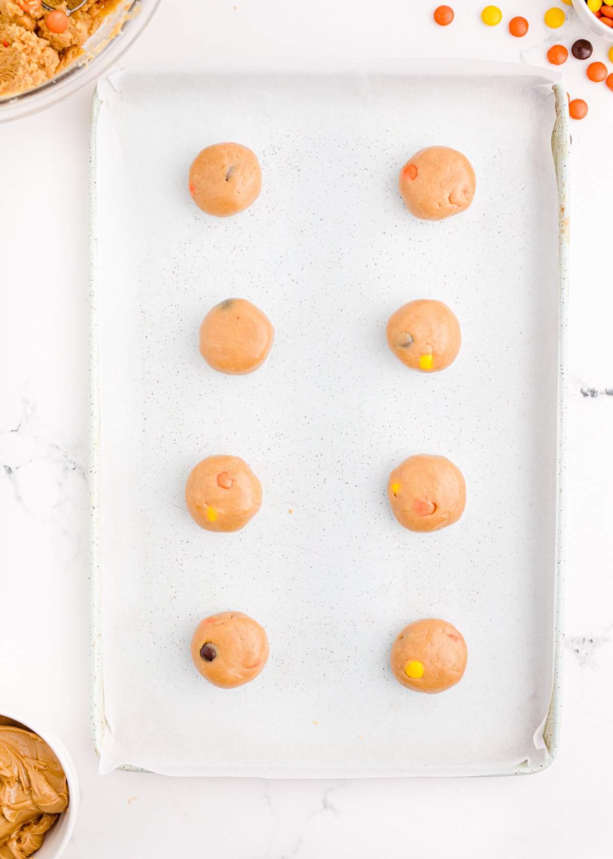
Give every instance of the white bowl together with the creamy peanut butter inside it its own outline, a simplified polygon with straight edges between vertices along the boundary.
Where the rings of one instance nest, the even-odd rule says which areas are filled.
[[[0,702],[0,856],[59,859],[78,811],[79,780],[62,740]]]

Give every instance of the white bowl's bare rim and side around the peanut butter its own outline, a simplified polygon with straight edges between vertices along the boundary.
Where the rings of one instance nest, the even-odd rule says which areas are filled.
[[[66,774],[69,789],[68,807],[64,814],[52,825],[49,832],[47,832],[40,850],[37,850],[33,854],[35,859],[59,859],[64,854],[64,850],[66,850],[66,846],[70,841],[75,828],[76,816],[79,813],[79,779],[76,775],[76,767],[62,740],[47,728],[46,725],[41,724],[38,719],[32,718],[27,713],[22,713],[21,710],[15,710],[14,707],[4,707],[1,701],[0,716],[5,716],[13,722],[20,722],[24,728],[29,728],[34,734],[42,737],[58,756],[58,760]]]

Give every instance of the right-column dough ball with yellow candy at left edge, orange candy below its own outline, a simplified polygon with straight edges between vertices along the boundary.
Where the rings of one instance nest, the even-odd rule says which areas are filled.
[[[444,456],[418,454],[394,468],[387,484],[391,509],[409,531],[439,531],[464,513],[466,484]]]

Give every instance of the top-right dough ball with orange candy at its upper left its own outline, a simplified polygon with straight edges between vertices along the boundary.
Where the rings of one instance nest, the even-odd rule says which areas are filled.
[[[468,209],[475,187],[468,158],[447,146],[420,149],[406,162],[398,180],[404,204],[422,221],[442,221]]]

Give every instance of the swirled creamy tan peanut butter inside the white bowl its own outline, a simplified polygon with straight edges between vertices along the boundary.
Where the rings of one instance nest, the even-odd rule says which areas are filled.
[[[0,859],[32,856],[67,806],[64,770],[45,740],[0,725]]]

